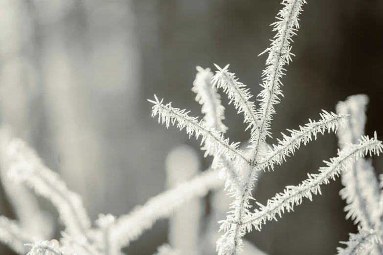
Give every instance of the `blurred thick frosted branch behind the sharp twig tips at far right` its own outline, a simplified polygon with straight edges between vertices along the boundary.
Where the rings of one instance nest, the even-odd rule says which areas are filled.
[[[350,96],[346,101],[338,103],[337,112],[350,115],[345,128],[340,128],[338,131],[339,148],[343,148],[348,143],[355,143],[364,134],[367,103],[368,97],[361,94]],[[351,163],[348,168],[348,171],[342,173],[344,188],[339,192],[347,203],[346,218],[351,217],[355,224],[360,222],[365,229],[381,225],[379,206],[377,206],[380,189],[371,161],[360,158],[357,162]]]

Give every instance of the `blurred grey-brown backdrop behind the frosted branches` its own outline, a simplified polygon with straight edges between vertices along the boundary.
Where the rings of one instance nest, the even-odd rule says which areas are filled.
[[[127,213],[166,189],[165,159],[172,148],[199,149],[184,131],[152,119],[146,99],[156,93],[202,116],[191,92],[195,66],[215,71],[213,63],[230,64],[257,95],[267,58],[257,55],[270,45],[269,25],[280,8],[280,0],[0,0],[1,123],[84,198],[91,219]],[[383,1],[308,1],[303,9],[273,137],[365,93],[366,134],[377,130],[382,140]],[[247,141],[242,115],[222,97],[227,135]],[[265,173],[255,198],[265,204],[336,153],[336,136],[319,136],[283,167]],[[207,168],[211,158],[203,159],[202,151],[198,157],[201,170]],[[383,159],[373,162],[382,173]],[[304,200],[294,213],[246,239],[270,255],[335,254],[338,242],[357,231],[345,220],[341,188],[340,179],[332,181],[313,202]],[[40,202],[57,218],[47,201]],[[15,218],[3,191],[0,214]],[[126,252],[153,254],[167,242],[168,231],[168,220],[160,220]],[[1,246],[0,254],[12,253]]]

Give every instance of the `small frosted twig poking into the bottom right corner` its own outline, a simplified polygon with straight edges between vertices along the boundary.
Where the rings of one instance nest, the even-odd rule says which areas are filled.
[[[369,254],[374,244],[381,245],[382,231],[380,230],[359,230],[358,234],[350,234],[347,242],[340,242],[347,245],[346,248],[338,248],[338,255],[361,255]]]

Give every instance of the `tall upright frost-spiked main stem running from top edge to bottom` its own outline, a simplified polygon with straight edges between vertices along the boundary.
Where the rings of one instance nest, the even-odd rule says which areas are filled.
[[[302,10],[302,5],[305,3],[305,0],[283,0],[282,4],[285,7],[279,12],[278,17],[279,21],[274,22],[273,31],[277,31],[275,40],[272,41],[271,47],[266,49],[264,52],[269,52],[269,57],[266,61],[267,67],[263,71],[263,84],[261,85],[264,90],[258,95],[261,97],[260,108],[254,115],[254,120],[256,120],[257,129],[254,129],[254,138],[250,139],[252,151],[252,167],[247,168],[248,173],[245,171],[247,179],[245,179],[245,184],[243,185],[242,191],[237,191],[236,201],[232,204],[231,208],[234,209],[231,214],[235,221],[238,224],[241,224],[248,217],[248,199],[251,198],[251,189],[253,182],[256,179],[256,167],[254,163],[258,159],[259,146],[261,143],[266,143],[266,137],[271,137],[270,132],[270,122],[272,114],[275,113],[274,106],[279,103],[279,96],[282,95],[280,90],[280,78],[283,73],[283,65],[288,64],[291,60],[290,53],[291,46],[290,42],[292,41],[292,36],[295,34],[294,30],[299,27],[298,24],[298,15]],[[295,28],[294,28],[295,27]],[[247,91],[245,91],[247,93]],[[247,98],[248,100],[249,98]],[[245,115],[246,116],[246,115]],[[259,137],[257,137],[257,135]],[[246,169],[245,166],[241,166],[242,169]],[[239,194],[241,193],[241,194]],[[225,229],[225,227],[222,227]],[[217,251],[219,255],[224,254],[237,254],[241,251],[242,240],[241,236],[245,234],[244,230],[236,226],[231,229],[230,233],[225,233],[225,235],[217,242]]]

